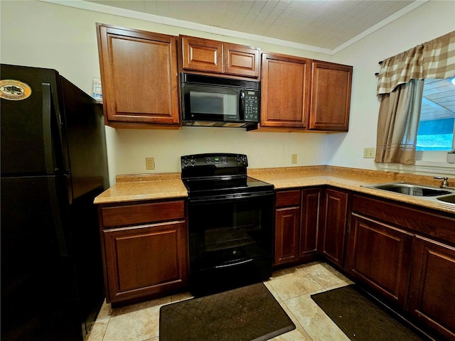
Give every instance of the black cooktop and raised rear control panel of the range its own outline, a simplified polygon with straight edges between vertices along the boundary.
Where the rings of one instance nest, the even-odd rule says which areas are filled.
[[[245,154],[205,153],[181,156],[188,197],[223,196],[273,190],[273,185],[247,176]]]

